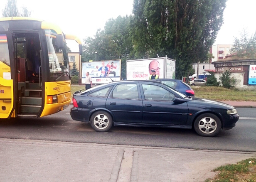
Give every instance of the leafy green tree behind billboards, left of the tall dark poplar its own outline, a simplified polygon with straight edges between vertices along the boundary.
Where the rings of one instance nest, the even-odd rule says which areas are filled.
[[[97,30],[94,38],[84,39],[82,61],[121,59],[121,77],[126,77],[126,60],[133,58],[133,42],[130,33],[131,16],[110,19],[104,30]]]

